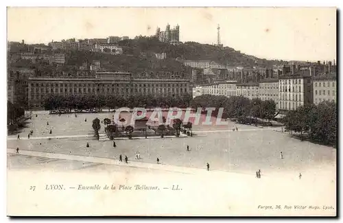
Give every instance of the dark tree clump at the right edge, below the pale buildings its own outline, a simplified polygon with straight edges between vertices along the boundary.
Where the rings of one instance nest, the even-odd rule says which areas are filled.
[[[300,133],[300,139],[332,144],[337,140],[337,105],[332,101],[322,101],[318,105],[309,104],[289,111],[283,118],[285,129]]]

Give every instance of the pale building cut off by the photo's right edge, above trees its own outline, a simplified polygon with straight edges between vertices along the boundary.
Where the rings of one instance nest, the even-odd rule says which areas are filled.
[[[337,101],[336,77],[314,78],[314,103],[318,105],[322,101]]]

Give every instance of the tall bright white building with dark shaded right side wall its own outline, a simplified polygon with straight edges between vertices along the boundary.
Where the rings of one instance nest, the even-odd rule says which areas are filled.
[[[279,79],[279,106],[281,111],[314,103],[313,83],[311,76],[286,75]]]

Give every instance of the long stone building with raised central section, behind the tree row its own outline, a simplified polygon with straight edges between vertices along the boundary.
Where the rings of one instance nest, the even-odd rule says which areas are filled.
[[[28,102],[31,107],[42,107],[49,94],[130,96],[152,94],[176,96],[191,94],[189,79],[160,77],[134,77],[131,73],[96,73],[86,77],[30,77],[28,80]]]

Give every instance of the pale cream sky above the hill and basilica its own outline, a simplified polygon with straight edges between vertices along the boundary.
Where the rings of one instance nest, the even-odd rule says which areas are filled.
[[[180,41],[221,42],[278,60],[336,60],[335,8],[8,8],[8,40],[151,36],[180,25]]]

